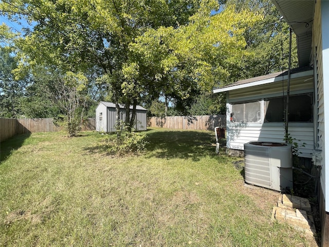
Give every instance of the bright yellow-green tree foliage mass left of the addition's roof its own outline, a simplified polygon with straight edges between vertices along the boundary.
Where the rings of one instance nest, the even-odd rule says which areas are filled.
[[[161,96],[168,106],[166,99],[171,98],[188,114],[193,98],[231,77],[230,64],[253,56],[245,49],[243,34],[262,17],[234,6],[211,15],[218,6],[210,3],[201,5],[187,25],[149,29],[131,43],[137,55],[130,73],[154,78],[146,84],[155,95],[152,102]]]

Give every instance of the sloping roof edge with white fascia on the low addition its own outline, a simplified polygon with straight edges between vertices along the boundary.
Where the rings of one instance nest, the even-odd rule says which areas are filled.
[[[300,78],[300,77],[305,77],[305,76],[312,76],[314,73],[314,70],[312,67],[300,67],[300,68],[295,68],[291,69],[290,71],[290,78],[295,79],[295,78]],[[267,83],[272,83],[276,81],[282,81],[282,80],[287,80],[288,79],[288,70],[285,70],[283,73],[282,72],[277,72],[265,76],[258,76],[258,77],[253,77],[241,81],[237,81],[233,84],[227,85],[220,87],[218,89],[214,89],[213,93],[221,93],[221,92],[227,92],[235,89],[243,89],[245,87],[249,86],[257,86],[257,85],[263,85]]]

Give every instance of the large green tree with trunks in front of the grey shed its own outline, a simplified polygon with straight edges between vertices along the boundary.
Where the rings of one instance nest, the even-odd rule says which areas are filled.
[[[129,111],[142,93],[141,83],[125,73],[127,64],[132,67],[129,44],[149,28],[186,24],[199,1],[15,0],[2,1],[0,7],[11,20],[24,18],[34,24],[16,42],[19,70],[44,64],[77,73],[97,65],[113,91],[117,110],[123,102]]]

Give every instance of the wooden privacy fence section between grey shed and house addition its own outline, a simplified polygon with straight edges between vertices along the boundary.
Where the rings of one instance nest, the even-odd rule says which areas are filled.
[[[187,130],[214,130],[226,126],[226,115],[151,117],[148,127]]]

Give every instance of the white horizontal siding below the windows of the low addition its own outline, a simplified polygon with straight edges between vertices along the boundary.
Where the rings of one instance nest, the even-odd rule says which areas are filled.
[[[294,126],[295,125],[295,126]],[[299,156],[312,157],[314,150],[314,128],[309,123],[291,124],[289,133],[294,142],[298,143]],[[284,123],[241,124],[228,123],[227,125],[227,148],[243,150],[244,144],[251,141],[259,142],[284,142]],[[303,147],[305,146],[305,147]]]

